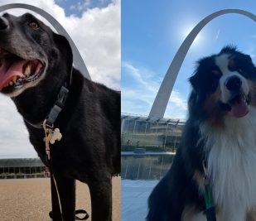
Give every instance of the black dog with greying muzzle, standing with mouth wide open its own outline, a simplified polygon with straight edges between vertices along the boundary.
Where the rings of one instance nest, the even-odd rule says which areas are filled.
[[[31,144],[46,166],[44,129],[36,128],[69,93],[54,123],[51,169],[63,220],[75,220],[75,180],[89,185],[92,220],[111,220],[113,175],[120,172],[120,93],[72,68],[69,42],[31,14],[0,17],[0,89],[22,114]],[[64,98],[65,99],[65,98]],[[48,125],[46,125],[48,126]]]

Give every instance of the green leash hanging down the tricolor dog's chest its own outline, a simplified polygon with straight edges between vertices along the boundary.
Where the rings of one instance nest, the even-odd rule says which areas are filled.
[[[204,186],[204,198],[205,198],[205,214],[207,221],[216,221],[215,204],[212,196],[211,186],[209,184],[209,178],[207,176],[205,161],[203,161],[203,168],[205,172],[205,186]]]

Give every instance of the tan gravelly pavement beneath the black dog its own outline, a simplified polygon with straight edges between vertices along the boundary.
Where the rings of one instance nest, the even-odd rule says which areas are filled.
[[[50,179],[0,180],[1,221],[49,221]],[[120,178],[113,178],[113,220],[121,220]],[[77,181],[76,208],[90,212],[89,189]],[[90,221],[90,218],[87,219]]]

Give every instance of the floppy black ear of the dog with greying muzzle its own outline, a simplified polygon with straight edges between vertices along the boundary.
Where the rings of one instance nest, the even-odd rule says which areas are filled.
[[[70,46],[70,42],[65,38],[65,36],[61,36],[58,34],[54,35],[54,41],[56,45],[58,46],[58,49],[60,50],[60,53],[65,59],[65,64],[67,65],[67,71],[68,71],[68,82],[71,83],[72,78],[72,69],[73,69],[73,51]]]

